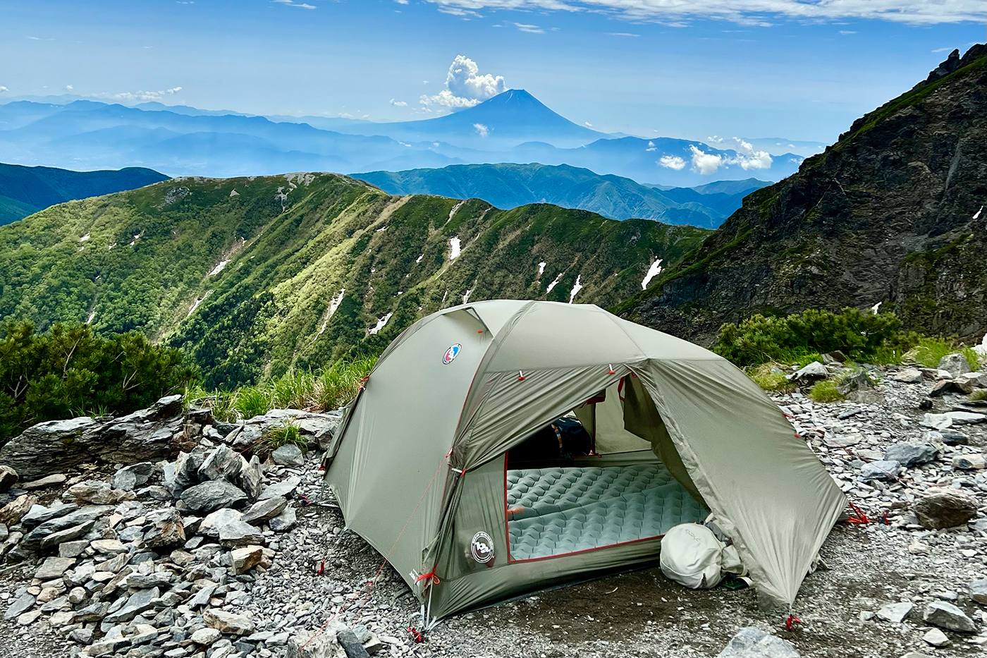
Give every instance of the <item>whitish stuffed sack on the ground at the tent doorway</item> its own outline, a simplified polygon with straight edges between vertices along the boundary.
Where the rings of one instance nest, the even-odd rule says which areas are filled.
[[[716,587],[722,579],[724,547],[706,526],[675,526],[661,539],[661,572],[694,590]]]

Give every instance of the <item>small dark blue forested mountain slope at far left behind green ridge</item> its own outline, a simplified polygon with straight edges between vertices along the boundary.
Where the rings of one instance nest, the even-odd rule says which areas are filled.
[[[66,201],[133,190],[167,180],[152,169],[69,171],[0,163],[0,225]]]

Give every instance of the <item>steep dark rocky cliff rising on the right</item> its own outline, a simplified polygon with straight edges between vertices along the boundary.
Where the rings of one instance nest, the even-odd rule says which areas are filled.
[[[987,331],[987,46],[857,120],[797,174],[749,195],[619,308],[709,341],[722,322],[881,304],[928,333]]]

